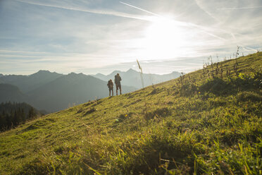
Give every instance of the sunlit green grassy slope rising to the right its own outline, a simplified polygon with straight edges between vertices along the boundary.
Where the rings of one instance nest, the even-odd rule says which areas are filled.
[[[224,80],[195,71],[0,133],[0,174],[262,174],[261,77],[243,74],[262,53],[226,78],[234,64]]]

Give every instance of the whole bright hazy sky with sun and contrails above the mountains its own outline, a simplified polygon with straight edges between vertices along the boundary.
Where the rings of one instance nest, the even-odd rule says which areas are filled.
[[[0,0],[0,73],[188,73],[261,51],[261,21],[261,0]]]

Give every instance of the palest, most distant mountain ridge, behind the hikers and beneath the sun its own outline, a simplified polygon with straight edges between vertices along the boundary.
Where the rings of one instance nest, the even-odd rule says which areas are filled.
[[[122,85],[129,85],[129,86],[135,86],[137,88],[142,88],[142,82],[141,82],[141,76],[140,73],[135,71],[134,69],[130,68],[128,71],[113,71],[112,73],[108,74],[107,76],[101,73],[97,73],[96,75],[92,75],[96,78],[99,78],[101,80],[114,80],[116,74],[119,73],[122,81]],[[157,83],[162,83],[167,80],[175,79],[179,76],[181,76],[181,73],[177,71],[173,71],[172,73],[164,74],[164,75],[158,75],[153,73],[143,73],[143,80],[144,80],[144,87],[149,85],[154,85]]]

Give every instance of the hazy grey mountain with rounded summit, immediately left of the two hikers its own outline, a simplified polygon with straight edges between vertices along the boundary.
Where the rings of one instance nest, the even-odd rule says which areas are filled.
[[[29,92],[31,104],[44,107],[47,111],[58,111],[75,104],[108,96],[107,82],[86,76],[83,73],[70,73]],[[135,87],[123,86],[123,93],[132,92]]]

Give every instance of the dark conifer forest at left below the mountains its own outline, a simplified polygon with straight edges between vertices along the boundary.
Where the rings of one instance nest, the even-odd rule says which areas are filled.
[[[15,128],[21,123],[40,116],[37,109],[26,103],[2,102],[0,104],[0,131]]]

